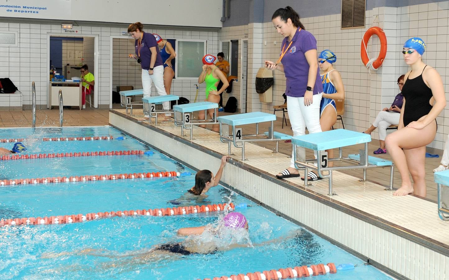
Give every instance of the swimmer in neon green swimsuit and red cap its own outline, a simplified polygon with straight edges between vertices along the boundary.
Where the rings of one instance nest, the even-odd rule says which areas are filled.
[[[209,102],[220,102],[220,94],[225,91],[225,89],[229,86],[229,82],[226,79],[225,74],[218,67],[215,66],[214,62],[216,61],[216,57],[210,54],[206,54],[202,58],[202,72],[198,77],[198,83],[202,84],[206,82],[206,99],[205,101]],[[220,90],[217,89],[218,82],[221,80],[223,86]],[[214,109],[207,110],[207,113],[211,118],[213,118]],[[218,114],[217,114],[218,115]],[[216,116],[217,117],[217,116]],[[199,111],[198,119],[204,120],[206,116],[204,115],[204,111]],[[206,128],[206,125],[200,125],[203,128]],[[212,131],[218,132],[219,124],[214,124],[212,126]]]

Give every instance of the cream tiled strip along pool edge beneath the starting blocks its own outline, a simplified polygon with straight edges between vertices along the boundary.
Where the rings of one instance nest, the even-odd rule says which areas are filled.
[[[124,110],[117,110],[124,114]],[[140,116],[135,116],[136,118]],[[160,123],[159,129],[180,136],[180,128],[175,127],[173,123]],[[243,128],[245,133],[250,131],[247,127]],[[260,128],[262,129],[262,128]],[[279,130],[279,129],[277,129]],[[188,139],[189,136],[184,136]],[[198,146],[216,151],[221,154],[227,154],[228,145],[221,143],[214,133],[207,129],[194,128],[194,139],[192,140]],[[287,144],[286,144],[287,145]],[[288,144],[289,147],[290,144]],[[270,148],[268,145],[260,145]],[[249,160],[244,161],[255,169],[260,169],[272,175],[289,164],[290,159],[283,154],[274,154],[260,146],[247,143],[245,145],[245,157]],[[374,145],[371,148],[376,148]],[[291,148],[290,148],[291,149]],[[290,152],[290,149],[284,147],[284,151]],[[354,149],[354,148],[353,148]],[[357,149],[357,148],[356,148]],[[233,159],[241,161],[241,149],[233,148]],[[343,151],[343,154],[354,152],[349,149]],[[312,156],[312,154],[309,154]],[[386,156],[386,155],[384,155]],[[432,159],[430,159],[432,160]],[[387,169],[386,169],[387,170]],[[383,173],[379,172],[379,180],[383,179]],[[360,177],[361,173],[358,173]],[[369,173],[374,177],[375,173]],[[387,178],[387,175],[384,175]],[[321,194],[328,198],[328,180],[312,182],[311,186],[304,187],[304,182],[299,178],[288,178],[287,181],[294,183],[294,186],[305,188],[307,191]],[[397,180],[396,180],[397,181]],[[429,181],[429,185],[434,183]],[[397,182],[396,184],[397,185]],[[334,172],[334,191],[338,196],[331,196],[330,199],[343,203],[345,207],[353,207],[365,213],[379,217],[379,221],[387,221],[394,224],[399,229],[404,228],[414,236],[423,236],[424,239],[432,239],[441,242],[447,246],[449,244],[449,223],[443,222],[437,215],[436,204],[430,200],[424,200],[414,196],[393,196],[392,191],[385,191],[384,187],[374,182],[359,182],[348,173]],[[433,241],[432,241],[433,242]]]

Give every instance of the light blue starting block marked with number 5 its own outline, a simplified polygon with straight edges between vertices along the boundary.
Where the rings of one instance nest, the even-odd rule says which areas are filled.
[[[366,169],[390,167],[390,186],[385,188],[386,190],[393,189],[393,172],[394,164],[390,160],[384,160],[374,156],[368,156],[368,143],[371,142],[370,134],[359,133],[346,129],[335,129],[320,133],[312,133],[301,136],[295,136],[291,138],[293,145],[293,153],[295,159],[295,167],[297,169],[304,169],[305,174],[308,173],[308,169],[316,170],[318,176],[323,179],[329,179],[329,195],[335,195],[332,191],[332,171],[341,169],[363,169],[363,179],[360,181],[366,181]],[[349,155],[343,157],[343,147],[365,144],[365,149],[360,150],[360,154]],[[297,148],[307,148],[317,153],[318,160],[297,160]],[[339,149],[339,157],[328,159],[325,150]],[[330,161],[341,161],[344,165],[328,167],[327,164]],[[315,164],[317,166],[315,166]],[[323,171],[328,171],[328,175],[323,175]],[[307,176],[304,176],[304,185],[308,185]]]

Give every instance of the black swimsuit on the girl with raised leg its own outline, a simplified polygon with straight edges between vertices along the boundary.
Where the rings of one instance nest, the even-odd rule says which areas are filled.
[[[426,67],[427,65],[424,69]],[[432,90],[424,83],[423,72],[416,78],[407,79],[402,88],[402,95],[405,98],[404,126],[407,126],[412,121],[419,120],[422,116],[426,116],[432,109],[429,103],[433,96]]]

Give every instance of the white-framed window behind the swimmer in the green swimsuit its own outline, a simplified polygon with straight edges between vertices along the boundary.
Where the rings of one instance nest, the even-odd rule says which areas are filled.
[[[202,70],[202,57],[206,54],[206,41],[176,40],[176,77],[198,78]]]

